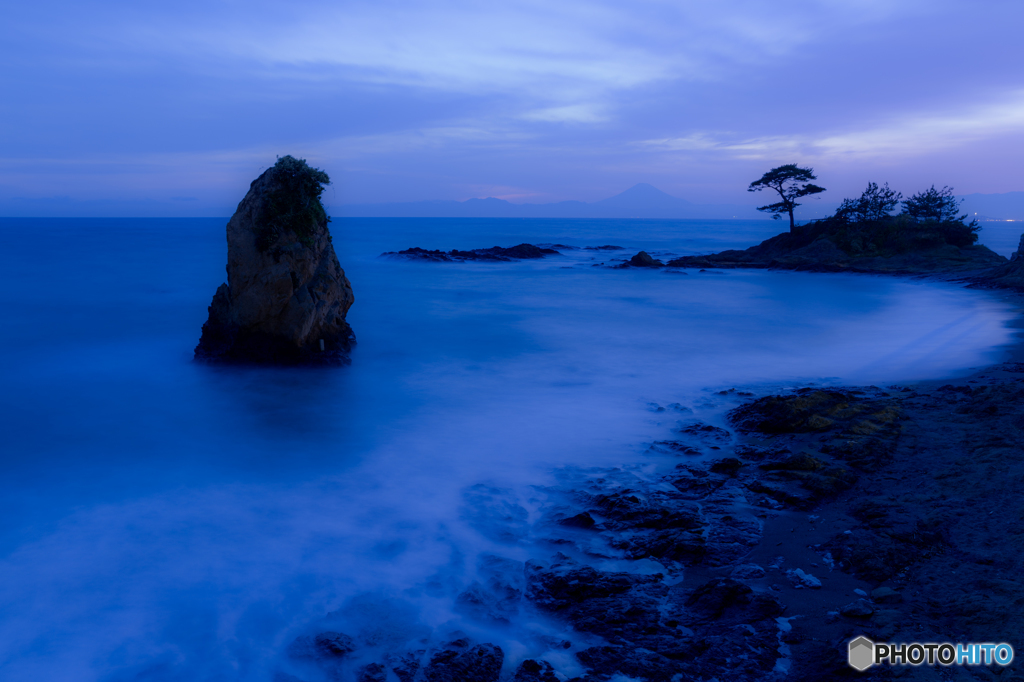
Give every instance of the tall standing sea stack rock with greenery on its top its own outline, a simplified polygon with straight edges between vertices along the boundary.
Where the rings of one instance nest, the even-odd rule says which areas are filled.
[[[227,223],[227,284],[210,304],[196,358],[270,365],[348,361],[355,300],[321,203],[327,173],[282,157]]]

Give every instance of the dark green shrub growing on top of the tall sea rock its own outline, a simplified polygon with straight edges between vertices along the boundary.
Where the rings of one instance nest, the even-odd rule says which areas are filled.
[[[331,184],[328,174],[309,166],[305,159],[279,157],[271,169],[276,185],[267,197],[266,212],[256,233],[256,248],[266,251],[285,231],[312,247],[318,225],[330,220],[321,195]]]

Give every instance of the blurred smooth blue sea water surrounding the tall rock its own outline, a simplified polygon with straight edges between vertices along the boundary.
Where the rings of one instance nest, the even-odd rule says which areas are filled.
[[[224,223],[0,220],[0,679],[313,682],[286,650],[325,622],[566,669],[557,625],[454,607],[479,556],[543,552],[538,486],[649,461],[675,426],[652,402],[721,423],[732,387],[951,377],[998,359],[1015,313],[913,280],[594,266],[768,221],[345,219],[352,365],[214,368],[190,358]],[[626,250],[379,257],[521,242]]]

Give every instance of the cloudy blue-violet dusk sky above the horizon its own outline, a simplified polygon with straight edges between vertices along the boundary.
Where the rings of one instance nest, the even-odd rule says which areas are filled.
[[[341,204],[1024,189],[1020,0],[5,0],[0,215],[229,215],[291,154]],[[763,202],[761,202],[763,203]]]

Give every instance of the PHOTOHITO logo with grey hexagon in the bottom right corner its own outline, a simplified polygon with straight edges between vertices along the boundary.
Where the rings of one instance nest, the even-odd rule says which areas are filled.
[[[1014,660],[1014,647],[999,644],[950,644],[949,642],[881,644],[866,637],[851,640],[848,650],[850,667],[865,671],[884,663],[890,666],[1009,666]]]

